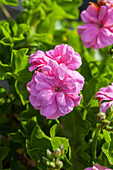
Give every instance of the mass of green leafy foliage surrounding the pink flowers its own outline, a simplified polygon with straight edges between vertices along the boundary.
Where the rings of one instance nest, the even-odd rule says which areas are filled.
[[[18,5],[17,0],[0,3]],[[83,46],[77,33],[77,26],[82,24],[78,21],[82,3],[23,0],[23,10],[16,20],[0,21],[0,80],[8,82],[7,88],[0,87],[0,169],[47,169],[42,159],[46,150],[55,151],[62,143],[63,169],[83,170],[92,166],[92,139],[99,112],[95,94],[113,81],[113,60],[110,46],[96,51]],[[62,43],[80,53],[83,64],[78,71],[85,77],[85,85],[81,104],[60,117],[59,124],[46,120],[31,106],[26,84],[32,77],[29,55]],[[112,138],[108,131],[101,131],[95,159],[109,168],[113,168]]]

